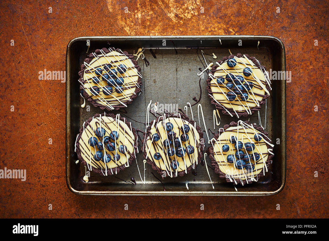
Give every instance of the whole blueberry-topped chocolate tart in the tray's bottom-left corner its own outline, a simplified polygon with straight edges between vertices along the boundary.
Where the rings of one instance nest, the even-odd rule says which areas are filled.
[[[75,152],[89,170],[101,175],[116,174],[136,158],[136,130],[120,115],[96,114],[80,128]]]

